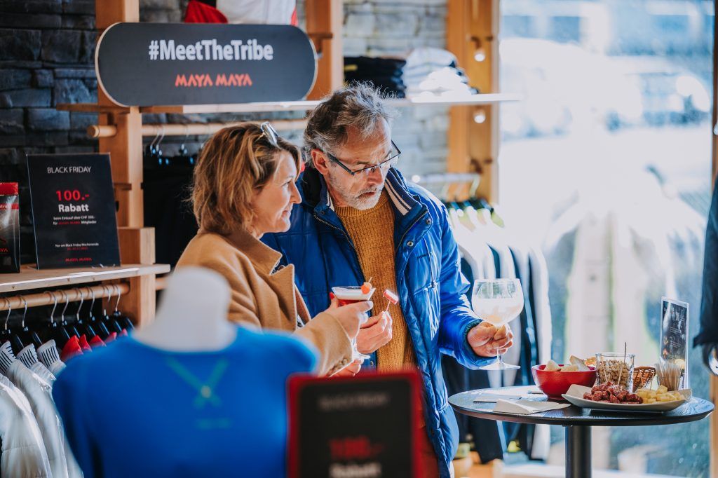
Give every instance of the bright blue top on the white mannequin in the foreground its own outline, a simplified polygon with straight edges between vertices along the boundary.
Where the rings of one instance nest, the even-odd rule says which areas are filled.
[[[127,337],[70,362],[52,393],[86,478],[284,477],[286,380],[316,360],[297,339],[241,327],[213,352]]]

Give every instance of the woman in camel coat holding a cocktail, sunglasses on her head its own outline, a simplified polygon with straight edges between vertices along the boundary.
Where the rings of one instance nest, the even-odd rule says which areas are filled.
[[[281,254],[261,243],[265,233],[289,229],[292,205],[300,202],[294,182],[299,149],[269,123],[240,123],[205,143],[195,167],[192,205],[200,231],[177,267],[202,266],[222,274],[232,297],[233,322],[294,332],[320,352],[318,372],[358,372],[351,362],[356,337],[372,304],[332,306],[310,319],[294,286],[294,266],[279,268]]]

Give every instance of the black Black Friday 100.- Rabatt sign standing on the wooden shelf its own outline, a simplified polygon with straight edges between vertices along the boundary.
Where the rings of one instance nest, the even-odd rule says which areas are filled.
[[[109,154],[28,154],[37,268],[118,266]]]

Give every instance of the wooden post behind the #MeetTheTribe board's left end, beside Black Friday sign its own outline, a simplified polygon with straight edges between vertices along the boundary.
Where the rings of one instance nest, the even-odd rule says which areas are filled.
[[[98,31],[117,22],[139,22],[139,0],[95,0]],[[114,105],[98,89],[98,104]],[[101,125],[116,127],[116,134],[100,139],[100,152],[109,153],[115,200],[118,204],[117,225],[122,263],[154,263],[154,229],[143,228],[142,195],[142,116],[139,108],[101,114]],[[154,276],[130,279],[130,293],[122,299],[123,311],[141,323],[154,316]]]

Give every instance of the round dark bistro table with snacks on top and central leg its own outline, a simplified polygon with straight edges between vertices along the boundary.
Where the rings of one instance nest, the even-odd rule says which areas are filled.
[[[691,398],[675,410],[664,413],[625,413],[607,410],[592,410],[569,406],[559,410],[551,410],[533,415],[516,415],[513,413],[494,413],[495,403],[475,402],[482,393],[510,393],[523,395],[527,400],[547,401],[546,395],[531,394],[529,390],[535,386],[484,388],[469,392],[457,393],[449,397],[449,403],[458,413],[485,418],[494,421],[510,421],[513,423],[529,423],[532,425],[560,425],[566,432],[566,477],[591,477],[591,427],[592,426],[648,426],[671,425],[686,423],[706,418],[713,411],[713,403],[702,398]]]

